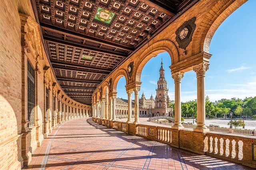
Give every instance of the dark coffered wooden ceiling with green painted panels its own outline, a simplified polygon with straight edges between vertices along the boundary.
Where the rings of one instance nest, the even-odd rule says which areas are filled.
[[[31,0],[62,89],[91,105],[98,84],[198,0]]]

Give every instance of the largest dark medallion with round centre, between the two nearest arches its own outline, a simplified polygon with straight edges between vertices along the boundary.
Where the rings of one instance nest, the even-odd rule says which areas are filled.
[[[176,41],[180,48],[186,49],[192,41],[192,35],[196,29],[196,17],[185,21],[176,31]]]

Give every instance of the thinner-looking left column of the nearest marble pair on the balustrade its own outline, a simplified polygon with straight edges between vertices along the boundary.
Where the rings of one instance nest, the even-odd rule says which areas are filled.
[[[176,72],[172,74],[172,78],[174,79],[175,86],[175,115],[174,115],[174,125],[173,129],[183,129],[184,127],[181,124],[181,79],[184,77],[184,73]]]

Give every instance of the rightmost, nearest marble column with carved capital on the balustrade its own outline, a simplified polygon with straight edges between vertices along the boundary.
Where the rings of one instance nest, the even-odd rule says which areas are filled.
[[[194,131],[208,132],[210,131],[205,124],[205,73],[209,69],[206,62],[200,63],[193,67],[197,78],[197,126]]]

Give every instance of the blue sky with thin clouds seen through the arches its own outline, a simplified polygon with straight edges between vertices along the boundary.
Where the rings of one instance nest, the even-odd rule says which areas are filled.
[[[256,0],[249,0],[231,14],[217,29],[210,44],[210,68],[206,72],[206,95],[211,101],[222,98],[256,96]],[[161,58],[165,68],[170,100],[174,100],[174,80],[170,73],[170,56],[160,53],[142,70],[140,96],[156,95]],[[117,85],[117,96],[127,98],[125,78]],[[196,99],[196,73],[186,72],[182,78],[182,102]],[[134,93],[132,95],[134,99]]]

